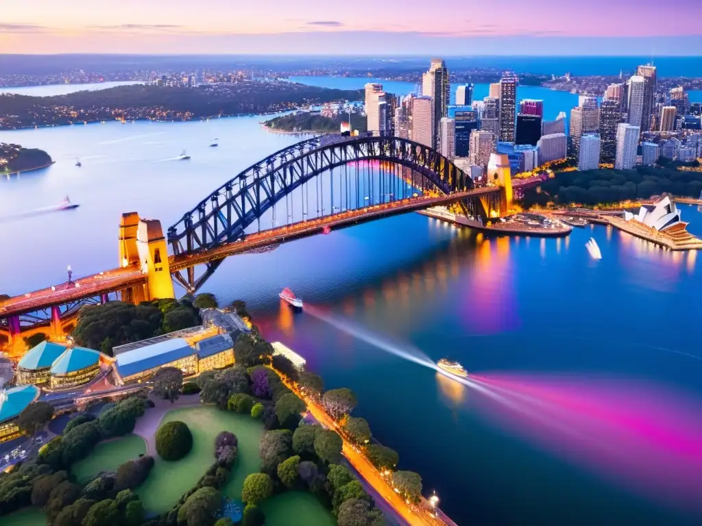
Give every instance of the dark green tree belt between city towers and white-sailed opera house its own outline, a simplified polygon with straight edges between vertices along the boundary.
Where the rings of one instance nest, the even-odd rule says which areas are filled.
[[[522,205],[595,206],[647,199],[665,192],[675,196],[698,197],[702,191],[702,172],[637,166],[634,170],[587,170],[557,173],[538,189],[524,191]]]

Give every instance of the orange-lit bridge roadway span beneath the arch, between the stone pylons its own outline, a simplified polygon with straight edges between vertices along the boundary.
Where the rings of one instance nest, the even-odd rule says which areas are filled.
[[[220,245],[211,250],[202,250],[190,254],[178,254],[170,256],[171,272],[180,271],[189,267],[194,267],[197,264],[204,264],[222,259],[223,257],[240,254],[247,250],[261,248],[267,245],[274,245],[293,241],[295,239],[319,234],[324,227],[348,227],[352,224],[371,221],[378,217],[386,217],[388,215],[401,214],[420,210],[422,208],[430,208],[432,206],[451,203],[453,201],[461,201],[462,199],[482,196],[486,194],[495,194],[500,189],[498,187],[482,187],[474,190],[454,192],[440,196],[427,196],[411,199],[403,199],[402,201],[392,201],[392,203],[383,203],[379,205],[371,205],[366,208],[357,210],[347,210],[345,212],[336,213],[318,217],[313,220],[298,222],[285,227],[278,227],[249,234],[243,240],[234,241]]]

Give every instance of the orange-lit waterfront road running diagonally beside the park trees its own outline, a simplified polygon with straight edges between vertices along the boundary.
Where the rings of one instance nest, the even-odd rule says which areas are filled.
[[[291,391],[305,401],[307,410],[317,422],[338,432],[336,422],[327,414],[324,407],[322,407],[317,400],[303,395],[300,389],[298,389],[296,385],[291,384],[285,377],[281,376],[281,379]],[[364,478],[366,483],[373,487],[373,490],[383,498],[388,506],[390,506],[406,524],[410,526],[444,526],[443,521],[435,519],[430,513],[420,511],[416,506],[407,504],[406,501],[395,492],[389,481],[378,471],[378,468],[373,466],[371,461],[366,459],[365,455],[355,445],[348,442],[341,433],[339,433],[339,436],[343,440],[342,452],[344,457],[346,457],[349,463],[355,468],[357,473]]]

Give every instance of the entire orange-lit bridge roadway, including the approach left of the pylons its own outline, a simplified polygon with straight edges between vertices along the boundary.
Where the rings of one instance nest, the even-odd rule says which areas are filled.
[[[319,234],[324,227],[347,227],[359,222],[377,219],[378,217],[411,212],[421,208],[460,201],[465,198],[494,194],[498,191],[500,191],[498,187],[482,187],[454,192],[453,194],[409,198],[402,201],[392,201],[392,203],[359,208],[358,210],[347,210],[313,220],[298,222],[286,227],[250,234],[241,241],[220,245],[212,250],[194,254],[171,255],[168,257],[170,269],[172,272],[180,271],[194,267],[197,264],[212,262],[223,257],[246,252],[247,250],[312,236]],[[4,302],[0,302],[0,318],[19,316],[20,314],[39,309],[48,309],[52,306],[65,305],[81,299],[97,297],[109,292],[124,290],[133,285],[140,285],[146,283],[146,281],[147,276],[135,265],[103,271],[100,274],[76,278],[70,282],[67,281],[53,287],[6,299]]]

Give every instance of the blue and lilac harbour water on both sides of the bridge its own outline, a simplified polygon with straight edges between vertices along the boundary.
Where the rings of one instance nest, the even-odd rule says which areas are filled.
[[[545,98],[547,117],[574,105],[559,107],[549,95],[577,98],[544,92],[519,88],[519,97]],[[0,180],[2,217],[66,194],[81,206],[2,221],[0,293],[63,281],[68,264],[75,276],[116,267],[121,213],[168,227],[225,180],[298,140],[266,133],[260,120],[1,132],[1,142],[45,149],[57,161]],[[218,148],[208,147],[211,137]],[[190,161],[174,159],[183,148]],[[702,234],[702,213],[681,209],[690,231]],[[599,261],[585,248],[590,237]],[[622,426],[648,410],[641,400],[702,403],[700,265],[696,252],[663,251],[604,227],[565,239],[489,239],[409,214],[232,257],[204,291],[222,304],[246,300],[268,339],[304,356],[328,388],[353,389],[374,436],[399,452],[401,468],[422,475],[425,492],[436,490],[460,525],[684,525],[701,517],[694,499],[681,497],[699,491],[698,476],[676,480],[663,464],[651,468],[651,455],[622,465],[606,459],[632,450],[640,426]],[[278,298],[284,287],[312,309],[293,313]],[[461,384],[402,358],[421,355],[456,359],[482,383]],[[611,384],[616,395],[602,398]],[[515,412],[515,403],[488,396],[505,386],[541,405]],[[675,411],[684,404],[656,411],[682,422]],[[548,422],[547,405],[567,407],[567,429]],[[606,410],[623,415],[611,435],[585,426],[609,422]],[[647,424],[650,436],[661,435],[663,421]],[[681,444],[698,440],[698,426],[659,444],[668,466],[687,458]],[[689,465],[699,465],[698,452]]]

